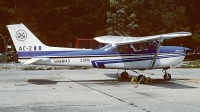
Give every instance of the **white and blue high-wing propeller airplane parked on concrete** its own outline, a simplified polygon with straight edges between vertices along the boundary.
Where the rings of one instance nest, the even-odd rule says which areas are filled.
[[[107,45],[98,50],[49,47],[37,39],[23,24],[7,25],[23,64],[80,66],[126,70],[163,69],[164,80],[170,80],[167,69],[177,67],[185,58],[188,48],[161,46],[164,39],[191,36],[190,32],[174,32],[146,37],[100,36],[94,38]],[[56,42],[56,40],[55,40]],[[144,75],[137,80],[145,81]]]

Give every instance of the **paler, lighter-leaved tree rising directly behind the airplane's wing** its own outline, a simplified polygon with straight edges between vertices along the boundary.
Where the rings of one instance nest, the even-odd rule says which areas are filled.
[[[110,0],[110,12],[107,12],[107,22],[109,24],[107,32],[109,35],[115,35],[116,32],[124,35],[123,32],[130,35],[138,25],[135,23],[135,13],[127,14],[125,0]]]

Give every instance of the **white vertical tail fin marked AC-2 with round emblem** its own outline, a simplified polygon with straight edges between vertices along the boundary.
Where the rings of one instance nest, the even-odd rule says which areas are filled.
[[[7,28],[18,52],[19,59],[80,50],[46,46],[23,24],[7,25]]]

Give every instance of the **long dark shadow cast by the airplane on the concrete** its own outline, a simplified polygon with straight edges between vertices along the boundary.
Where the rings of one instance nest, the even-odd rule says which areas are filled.
[[[189,89],[189,88],[197,88],[194,86],[189,86],[186,84],[180,84],[178,83],[179,80],[190,80],[190,79],[172,79],[171,81],[165,81],[163,79],[152,79],[152,83],[148,84],[141,84],[141,85],[148,85],[148,86],[155,86],[155,87],[163,87],[163,88],[170,88],[170,89]],[[177,81],[177,82],[176,82]],[[53,85],[57,83],[67,83],[67,82],[75,82],[75,83],[82,83],[84,85],[87,84],[97,84],[97,85],[104,85],[104,86],[109,86],[109,85],[136,85],[132,84],[130,80],[118,80],[117,78],[115,79],[105,79],[105,80],[71,80],[71,81],[53,81],[53,80],[48,80],[48,79],[29,79],[27,82],[31,84],[36,84],[36,85]]]

